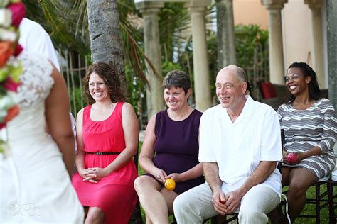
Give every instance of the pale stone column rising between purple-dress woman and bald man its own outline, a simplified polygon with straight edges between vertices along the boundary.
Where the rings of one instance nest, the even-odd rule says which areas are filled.
[[[210,108],[210,72],[206,45],[205,11],[210,0],[186,3],[192,20],[193,72],[196,108],[205,111]]]

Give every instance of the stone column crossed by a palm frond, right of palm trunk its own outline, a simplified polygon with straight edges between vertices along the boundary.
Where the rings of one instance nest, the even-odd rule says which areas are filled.
[[[146,63],[146,79],[150,87],[146,89],[146,106],[148,120],[155,113],[164,108],[164,95],[161,87],[161,45],[159,44],[158,13],[164,7],[164,2],[142,1],[136,3],[144,19],[144,45],[145,55],[149,57],[160,77]]]

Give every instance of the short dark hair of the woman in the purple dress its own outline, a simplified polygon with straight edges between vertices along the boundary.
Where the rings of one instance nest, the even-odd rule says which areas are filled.
[[[185,94],[187,94],[188,89],[191,89],[191,80],[188,75],[181,70],[172,70],[166,74],[163,80],[163,87],[165,89],[183,88]]]

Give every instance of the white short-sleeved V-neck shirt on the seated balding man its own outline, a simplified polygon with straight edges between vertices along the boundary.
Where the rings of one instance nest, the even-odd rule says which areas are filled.
[[[220,105],[209,108],[200,120],[199,161],[217,162],[225,193],[238,189],[255,171],[260,161],[281,161],[282,145],[279,119],[267,104],[247,101],[240,116],[232,123]],[[278,169],[262,183],[282,191]]]

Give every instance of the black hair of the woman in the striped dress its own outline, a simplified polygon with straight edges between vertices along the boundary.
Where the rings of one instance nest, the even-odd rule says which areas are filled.
[[[318,100],[321,99],[321,89],[319,89],[319,82],[317,82],[317,75],[314,69],[312,69],[308,64],[305,62],[294,62],[292,63],[288,69],[291,68],[299,68],[301,71],[304,73],[304,77],[310,77],[310,82],[309,82],[309,99],[310,100]],[[288,94],[286,96],[285,101],[287,103],[292,103],[295,100],[296,96],[292,94]]]

